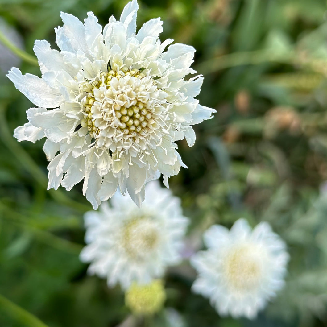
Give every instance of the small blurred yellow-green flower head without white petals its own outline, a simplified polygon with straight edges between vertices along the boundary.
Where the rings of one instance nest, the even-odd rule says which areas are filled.
[[[126,305],[135,315],[152,315],[163,307],[165,300],[163,282],[159,279],[142,285],[134,282],[125,293]]]

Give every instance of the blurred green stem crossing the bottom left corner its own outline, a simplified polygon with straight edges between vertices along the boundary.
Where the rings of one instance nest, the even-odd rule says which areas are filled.
[[[0,294],[0,307],[9,316],[22,324],[24,326],[30,327],[47,327],[47,325],[41,321],[39,318],[35,317],[25,309],[21,308],[14,302],[11,302],[3,295]]]

